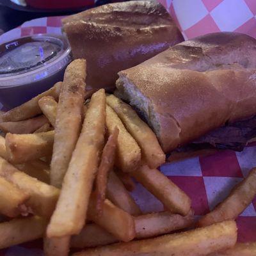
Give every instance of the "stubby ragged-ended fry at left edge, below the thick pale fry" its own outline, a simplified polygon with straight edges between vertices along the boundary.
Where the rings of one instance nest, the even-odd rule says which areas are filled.
[[[8,180],[0,177],[0,213],[10,218],[17,217],[22,212],[21,205],[29,195],[14,186]]]

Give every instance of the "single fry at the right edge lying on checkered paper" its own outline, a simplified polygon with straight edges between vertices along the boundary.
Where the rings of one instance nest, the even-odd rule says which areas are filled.
[[[232,189],[223,202],[198,221],[198,226],[204,227],[224,220],[235,220],[252,202],[255,195],[256,168],[253,168],[249,175]]]

